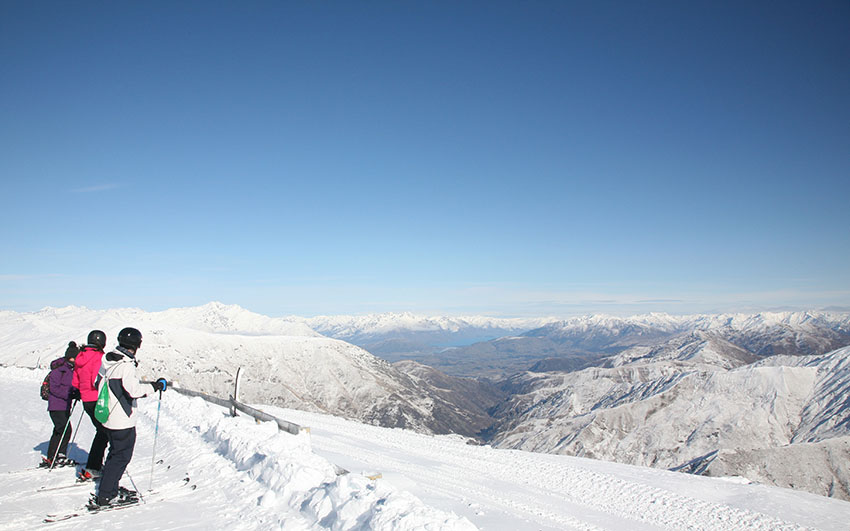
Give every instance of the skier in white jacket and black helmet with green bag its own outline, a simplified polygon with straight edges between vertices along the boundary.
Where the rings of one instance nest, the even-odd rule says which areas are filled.
[[[109,454],[97,495],[89,502],[92,510],[138,501],[136,493],[120,488],[118,482],[133,458],[136,445],[136,419],[133,417],[136,399],[147,396],[149,390],[136,376],[136,352],[141,345],[142,333],[135,328],[124,328],[118,332],[118,347],[103,357],[98,372],[98,392],[106,386],[109,396],[109,418],[103,422]],[[166,381],[160,378],[152,385],[155,391],[165,390]]]

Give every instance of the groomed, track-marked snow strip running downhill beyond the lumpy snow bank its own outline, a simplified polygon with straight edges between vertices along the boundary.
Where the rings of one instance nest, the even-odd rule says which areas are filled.
[[[611,529],[612,522],[618,529],[813,529],[596,472],[583,466],[591,463],[589,460],[470,446],[457,437],[387,430],[268,406],[263,409],[296,423],[311,423],[318,453],[356,455],[361,468],[382,471],[388,478],[410,478],[427,485],[420,488],[445,497],[475,500],[474,505],[485,506],[485,512],[501,513],[494,520],[521,514],[535,529]],[[393,472],[388,474],[388,469]],[[667,474],[677,479],[681,476],[641,471],[656,473],[662,481]]]

